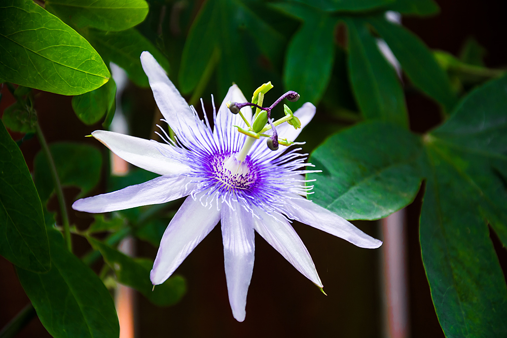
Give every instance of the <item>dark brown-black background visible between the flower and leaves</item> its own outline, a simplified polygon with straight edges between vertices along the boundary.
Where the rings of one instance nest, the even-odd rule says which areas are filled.
[[[430,48],[454,55],[459,54],[466,39],[472,36],[487,50],[487,66],[507,64],[507,2],[437,0],[437,3],[441,7],[438,16],[403,18],[403,24]],[[6,90],[3,93],[0,111],[13,102]],[[154,111],[149,89],[130,88],[126,93],[140,97],[139,102],[143,102],[146,111]],[[410,91],[406,98],[413,131],[422,133],[440,123],[439,108],[435,103]],[[101,128],[100,125],[85,126],[79,122],[71,108],[70,97],[39,92],[35,102],[48,143],[83,141],[83,135]],[[22,135],[12,136],[19,139]],[[104,151],[95,140],[87,141]],[[35,138],[21,145],[30,170],[39,149]],[[103,189],[104,183],[92,195]],[[77,193],[74,189],[65,190],[68,205]],[[420,192],[407,210],[410,333],[414,338],[443,337],[421,261],[418,218],[422,195]],[[56,209],[56,201],[51,201],[51,205]],[[91,221],[91,218],[74,211],[69,216],[72,222],[82,227]],[[380,236],[378,222],[354,223],[373,237]],[[295,224],[295,229],[313,257],[328,296],[321,294],[317,287],[256,235],[256,262],[248,292],[247,315],[243,323],[238,323],[229,306],[222,237],[219,227],[216,227],[176,271],[185,276],[188,283],[188,292],[180,303],[170,308],[157,308],[142,295],[137,296],[137,336],[381,336],[382,248],[360,249],[303,224]],[[73,240],[78,256],[89,249],[82,238],[74,237]],[[505,275],[507,251],[501,248],[496,237],[493,243]],[[154,257],[156,248],[138,242],[137,253]],[[3,327],[29,300],[17,280],[14,267],[3,257],[0,257],[0,276],[0,327]],[[35,318],[18,336],[45,337],[49,334]]]

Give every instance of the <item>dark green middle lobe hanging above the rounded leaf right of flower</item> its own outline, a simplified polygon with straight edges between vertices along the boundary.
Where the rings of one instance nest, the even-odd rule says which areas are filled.
[[[380,54],[363,21],[347,18],[349,72],[357,104],[366,119],[408,126],[405,97],[396,72]]]

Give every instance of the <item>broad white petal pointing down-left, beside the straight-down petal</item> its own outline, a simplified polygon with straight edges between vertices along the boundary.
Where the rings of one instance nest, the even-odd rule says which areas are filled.
[[[191,196],[187,197],[172,217],[160,241],[150,273],[153,285],[162,284],[169,278],[219,220],[220,211],[216,210],[216,207],[203,207],[199,196],[195,201]]]

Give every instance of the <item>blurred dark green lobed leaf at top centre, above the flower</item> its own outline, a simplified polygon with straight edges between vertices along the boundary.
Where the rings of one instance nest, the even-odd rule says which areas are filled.
[[[179,89],[191,92],[205,73],[215,49],[219,50],[217,80],[223,97],[233,82],[247,90],[252,83],[252,65],[246,52],[251,34],[256,48],[270,61],[277,57],[283,36],[237,0],[207,1],[192,24],[178,73]]]

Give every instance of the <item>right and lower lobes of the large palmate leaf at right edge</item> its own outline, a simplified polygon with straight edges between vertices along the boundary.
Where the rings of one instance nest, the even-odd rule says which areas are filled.
[[[507,244],[507,77],[469,94],[425,137],[422,258],[449,337],[507,334],[507,289],[485,218]]]

